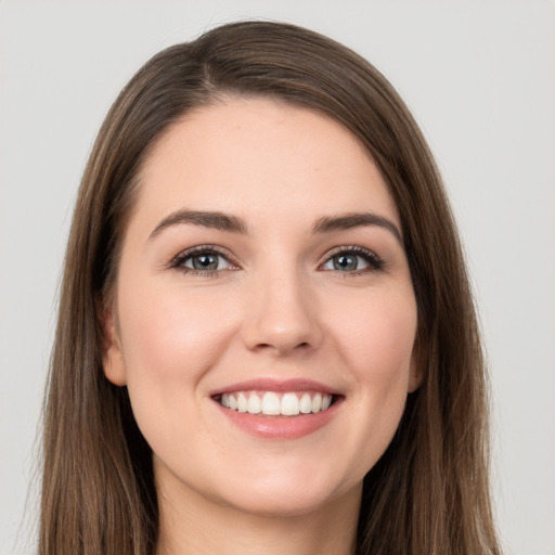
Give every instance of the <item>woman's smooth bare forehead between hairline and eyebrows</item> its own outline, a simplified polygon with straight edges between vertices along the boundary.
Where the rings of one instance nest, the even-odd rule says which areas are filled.
[[[140,176],[138,211],[180,207],[263,221],[371,210],[398,221],[374,160],[339,122],[269,99],[232,99],[172,125]]]

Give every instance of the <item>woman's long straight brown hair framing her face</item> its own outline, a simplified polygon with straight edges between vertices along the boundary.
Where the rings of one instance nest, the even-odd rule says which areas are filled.
[[[472,292],[434,158],[389,82],[312,31],[234,23],[149,61],[112,106],[85,170],[63,275],[44,415],[41,555],[152,555],[152,453],[126,388],[102,370],[109,295],[149,150],[183,114],[263,95],[340,121],[397,204],[418,309],[424,374],[369,472],[358,554],[500,553],[488,483],[487,383]]]

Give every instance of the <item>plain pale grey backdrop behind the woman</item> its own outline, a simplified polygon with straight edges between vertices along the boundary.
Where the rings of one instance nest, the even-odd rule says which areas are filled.
[[[476,287],[501,537],[554,555],[555,4],[533,0],[0,2],[0,554],[34,553],[56,285],[102,118],[155,52],[250,17],[346,43],[414,112]]]

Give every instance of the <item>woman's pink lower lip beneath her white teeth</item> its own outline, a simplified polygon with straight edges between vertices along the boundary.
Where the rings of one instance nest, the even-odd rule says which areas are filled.
[[[337,413],[343,398],[337,399],[330,409],[298,416],[267,416],[225,409],[215,401],[222,414],[244,431],[267,439],[298,439],[324,427]]]

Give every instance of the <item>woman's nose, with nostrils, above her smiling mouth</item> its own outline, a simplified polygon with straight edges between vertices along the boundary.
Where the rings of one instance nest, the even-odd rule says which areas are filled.
[[[295,272],[249,283],[243,341],[249,350],[283,357],[318,348],[323,334],[318,300]]]

